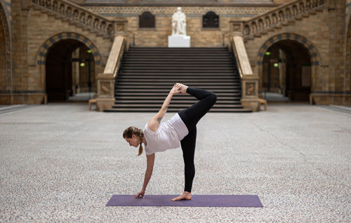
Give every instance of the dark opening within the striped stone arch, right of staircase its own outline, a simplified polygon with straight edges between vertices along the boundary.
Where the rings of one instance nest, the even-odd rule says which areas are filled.
[[[308,101],[311,73],[305,46],[292,40],[279,41],[265,52],[260,91],[267,100]]]

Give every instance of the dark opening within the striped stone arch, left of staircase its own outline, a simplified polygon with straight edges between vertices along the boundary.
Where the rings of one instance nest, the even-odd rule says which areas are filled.
[[[48,48],[45,67],[48,102],[95,92],[95,60],[84,43],[74,39],[56,42]]]

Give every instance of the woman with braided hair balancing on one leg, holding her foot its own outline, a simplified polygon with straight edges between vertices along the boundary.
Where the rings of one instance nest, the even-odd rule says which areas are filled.
[[[169,121],[161,123],[161,119],[167,112],[168,104],[173,95],[186,93],[196,97],[199,102],[191,107],[175,114]],[[134,198],[144,198],[145,189],[152,175],[154,168],[155,152],[166,149],[176,149],[182,146],[185,163],[185,188],[182,195],[173,198],[172,201],[191,200],[192,180],[195,175],[194,153],[197,137],[197,122],[213,107],[217,96],[208,90],[189,88],[181,83],[176,83],[169,92],[159,112],[145,125],[144,130],[136,127],[129,127],[124,130],[123,137],[130,146],[139,147],[139,154],[143,153],[142,143],[145,144],[147,157],[147,168],[143,189]]]

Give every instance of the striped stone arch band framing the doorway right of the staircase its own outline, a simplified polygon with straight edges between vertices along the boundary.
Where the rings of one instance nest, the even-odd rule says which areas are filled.
[[[310,55],[310,60],[311,60],[311,92],[313,92],[314,89],[314,80],[316,77],[316,69],[321,65],[320,61],[320,55],[317,51],[317,49],[313,46],[313,44],[304,36],[300,36],[298,34],[289,34],[289,33],[284,33],[284,34],[277,34],[276,36],[273,36],[272,38],[268,39],[263,43],[263,46],[261,46],[260,50],[258,51],[258,55],[256,57],[256,65],[258,65],[258,76],[262,76],[263,74],[263,58],[265,56],[265,52],[267,51],[268,48],[274,45],[274,43],[278,43],[279,41],[283,40],[291,40],[291,41],[296,41],[297,43],[300,43],[302,46],[305,47],[307,50],[307,53]]]

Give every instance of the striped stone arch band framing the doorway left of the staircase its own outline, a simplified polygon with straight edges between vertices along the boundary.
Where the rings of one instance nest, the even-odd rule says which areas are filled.
[[[59,34],[55,34],[41,45],[37,53],[36,65],[39,71],[39,76],[41,77],[41,89],[43,90],[46,90],[46,58],[48,56],[48,51],[51,48],[51,46],[53,46],[55,43],[66,39],[72,39],[84,43],[93,54],[93,58],[95,61],[95,78],[98,75],[98,72],[100,71],[101,56],[98,51],[98,47],[91,40],[86,38],[86,36],[84,35],[73,32],[62,32]]]

